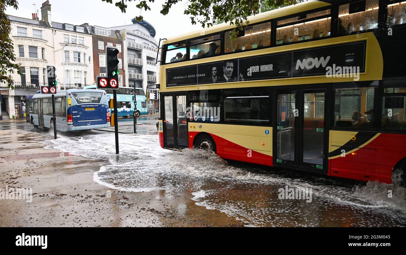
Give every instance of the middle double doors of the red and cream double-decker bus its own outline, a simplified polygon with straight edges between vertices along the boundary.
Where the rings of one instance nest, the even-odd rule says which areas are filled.
[[[327,173],[326,90],[276,91],[274,165]]]

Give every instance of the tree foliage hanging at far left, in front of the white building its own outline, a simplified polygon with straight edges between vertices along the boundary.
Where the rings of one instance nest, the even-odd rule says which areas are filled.
[[[14,63],[14,47],[10,38],[11,24],[5,13],[8,6],[17,9],[17,5],[17,0],[0,0],[0,82],[7,83],[9,89],[14,89],[11,73],[16,69],[17,73],[22,75],[20,66]]]

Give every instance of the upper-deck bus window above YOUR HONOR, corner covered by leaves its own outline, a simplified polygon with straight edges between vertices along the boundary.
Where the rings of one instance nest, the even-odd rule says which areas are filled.
[[[253,26],[248,26],[242,31],[238,31],[238,37],[231,41],[231,31],[225,32],[224,52],[239,52],[251,50],[271,45],[271,23],[265,22]]]

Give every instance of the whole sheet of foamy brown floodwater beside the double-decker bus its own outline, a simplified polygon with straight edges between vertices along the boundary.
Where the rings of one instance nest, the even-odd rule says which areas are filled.
[[[114,133],[62,136],[44,143],[105,160],[106,166],[93,175],[101,185],[127,192],[189,192],[197,205],[246,226],[406,226],[406,191],[397,185],[246,166],[203,150],[165,150],[157,134],[119,134],[119,140],[119,156],[114,154]]]

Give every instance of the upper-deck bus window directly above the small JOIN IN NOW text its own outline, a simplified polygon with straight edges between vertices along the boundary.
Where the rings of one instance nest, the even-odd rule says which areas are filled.
[[[343,4],[338,11],[338,35],[378,28],[379,0]]]

